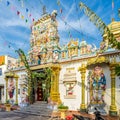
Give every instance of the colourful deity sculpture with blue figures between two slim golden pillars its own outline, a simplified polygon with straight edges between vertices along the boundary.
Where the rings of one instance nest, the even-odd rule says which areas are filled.
[[[101,67],[96,66],[89,72],[89,95],[91,104],[104,103],[104,93],[106,90],[106,78]]]

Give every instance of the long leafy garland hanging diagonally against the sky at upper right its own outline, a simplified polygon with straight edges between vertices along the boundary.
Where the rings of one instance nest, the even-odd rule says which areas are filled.
[[[120,42],[116,40],[113,33],[107,27],[107,25],[102,21],[100,17],[98,17],[90,8],[88,8],[84,3],[80,2],[79,4],[80,9],[84,10],[86,16],[89,17],[89,20],[94,23],[94,25],[99,29],[100,33],[107,34],[107,38],[109,40],[109,45],[114,48],[120,49]]]

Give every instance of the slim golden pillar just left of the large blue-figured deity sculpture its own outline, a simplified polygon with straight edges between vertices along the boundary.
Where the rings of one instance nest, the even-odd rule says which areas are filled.
[[[81,80],[82,80],[82,96],[81,96],[81,105],[80,105],[80,111],[85,112],[86,111],[86,105],[85,105],[85,74],[86,74],[86,65],[82,64],[81,67],[79,67],[78,71],[81,73]]]

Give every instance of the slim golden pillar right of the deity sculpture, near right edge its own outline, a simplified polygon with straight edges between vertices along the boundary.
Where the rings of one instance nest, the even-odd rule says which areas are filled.
[[[117,115],[117,107],[115,104],[115,67],[116,67],[116,63],[113,62],[110,64],[110,71],[111,71],[111,105],[110,105],[110,111],[109,114],[111,116],[116,116]]]

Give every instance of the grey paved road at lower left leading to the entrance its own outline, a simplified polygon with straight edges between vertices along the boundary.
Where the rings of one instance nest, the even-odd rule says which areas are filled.
[[[52,110],[47,106],[46,102],[37,102],[16,111],[0,111],[0,120],[48,120],[51,118]]]

